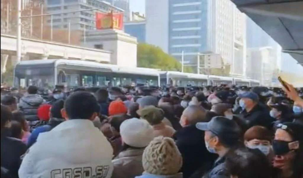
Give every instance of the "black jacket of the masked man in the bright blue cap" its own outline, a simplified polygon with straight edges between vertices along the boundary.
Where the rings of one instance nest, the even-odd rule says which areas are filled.
[[[239,116],[245,119],[248,128],[260,125],[272,130],[273,122],[275,121],[274,118],[270,117],[268,109],[261,104],[255,105],[249,112],[243,110]]]

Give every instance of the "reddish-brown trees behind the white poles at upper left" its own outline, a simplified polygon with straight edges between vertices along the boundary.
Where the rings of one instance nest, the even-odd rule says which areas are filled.
[[[45,14],[40,0],[24,0],[22,2],[22,16]],[[1,34],[17,34],[17,0],[1,0]],[[50,16],[22,18],[22,37],[32,39],[51,40],[51,27],[47,20]],[[42,36],[41,36],[42,34]],[[70,32],[70,44],[79,45],[82,33],[78,30]],[[68,43],[68,29],[53,29],[52,41]]]

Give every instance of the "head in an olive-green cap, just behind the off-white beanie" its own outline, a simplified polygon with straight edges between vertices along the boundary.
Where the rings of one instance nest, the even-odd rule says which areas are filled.
[[[164,119],[164,111],[155,106],[147,106],[137,111],[140,118],[145,119],[150,125],[157,125]]]

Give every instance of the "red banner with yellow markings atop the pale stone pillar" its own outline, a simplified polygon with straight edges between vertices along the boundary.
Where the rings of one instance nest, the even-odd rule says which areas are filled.
[[[123,29],[123,13],[96,12],[96,29]]]

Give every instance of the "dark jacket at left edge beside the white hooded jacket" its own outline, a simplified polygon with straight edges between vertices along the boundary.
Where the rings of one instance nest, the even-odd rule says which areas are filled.
[[[1,132],[1,167],[7,169],[13,178],[18,178],[20,157],[26,152],[27,147],[21,140],[6,135]]]

